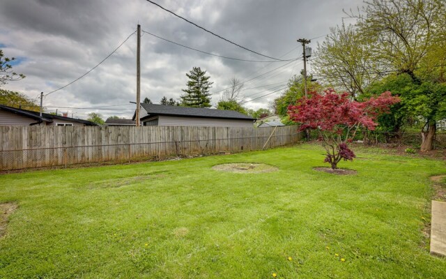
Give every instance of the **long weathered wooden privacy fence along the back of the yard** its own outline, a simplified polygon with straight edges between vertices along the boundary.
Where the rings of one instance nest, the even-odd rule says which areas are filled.
[[[296,126],[0,126],[0,170],[261,150],[300,140]]]

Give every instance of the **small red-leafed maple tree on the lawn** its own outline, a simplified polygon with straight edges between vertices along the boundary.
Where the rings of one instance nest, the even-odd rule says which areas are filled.
[[[390,92],[372,97],[364,102],[351,100],[350,93],[336,93],[328,89],[323,93],[310,92],[309,98],[301,98],[296,105],[288,107],[292,121],[301,123],[300,131],[317,130],[319,140],[323,141],[327,156],[324,162],[332,169],[342,160],[353,160],[355,153],[348,148],[359,128],[375,130],[376,117],[390,110],[398,103],[398,97]]]

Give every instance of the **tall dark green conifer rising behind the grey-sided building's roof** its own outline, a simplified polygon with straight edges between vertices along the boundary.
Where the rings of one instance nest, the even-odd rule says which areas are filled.
[[[187,89],[183,89],[185,94],[181,96],[181,104],[184,107],[210,107],[209,89],[213,82],[209,81],[210,76],[206,75],[206,70],[194,67],[190,73],[186,73],[189,78]]]

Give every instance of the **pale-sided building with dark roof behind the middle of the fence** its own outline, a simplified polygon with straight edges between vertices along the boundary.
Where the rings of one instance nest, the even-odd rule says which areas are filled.
[[[254,119],[233,110],[141,104],[143,126],[252,127]],[[135,115],[133,115],[133,120]]]

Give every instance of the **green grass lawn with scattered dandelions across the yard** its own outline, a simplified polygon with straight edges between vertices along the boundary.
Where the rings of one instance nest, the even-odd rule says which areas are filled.
[[[446,278],[423,234],[445,163],[376,151],[350,176],[308,144],[1,175],[0,278]],[[211,169],[235,162],[279,170]]]

